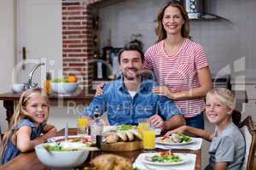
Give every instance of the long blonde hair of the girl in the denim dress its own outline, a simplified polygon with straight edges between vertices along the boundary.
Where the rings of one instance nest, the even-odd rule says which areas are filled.
[[[27,111],[26,111],[26,105],[28,103],[28,101],[35,96],[36,94],[40,94],[47,102],[47,104],[49,105],[49,99],[48,99],[48,95],[44,92],[43,89],[41,88],[31,88],[31,89],[27,89],[25,92],[23,92],[23,94],[21,94],[20,96],[20,100],[19,103],[16,107],[15,110],[15,114],[11,117],[11,121],[9,123],[9,129],[6,133],[4,133],[3,136],[3,141],[1,144],[1,161],[3,159],[3,150],[5,150],[6,146],[7,146],[7,142],[9,137],[11,136],[11,131],[12,131],[12,127],[16,127],[17,124],[25,118],[30,119],[30,117],[26,116]],[[48,106],[48,111],[49,111],[49,106]],[[48,117],[47,117],[48,118]],[[45,122],[47,121],[47,119],[45,120]]]

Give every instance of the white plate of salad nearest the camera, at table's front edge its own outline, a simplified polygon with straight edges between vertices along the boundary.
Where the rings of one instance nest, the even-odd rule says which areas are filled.
[[[186,155],[181,153],[172,153],[171,150],[161,151],[158,153],[148,153],[143,157],[143,162],[156,166],[179,165],[189,161]]]

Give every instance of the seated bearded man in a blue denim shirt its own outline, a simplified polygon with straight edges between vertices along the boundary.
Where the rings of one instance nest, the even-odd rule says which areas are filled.
[[[104,85],[84,114],[93,117],[96,108],[107,111],[110,125],[137,125],[138,119],[149,118],[154,127],[169,130],[182,126],[184,119],[171,99],[152,93],[156,82],[142,76],[144,55],[136,44],[126,44],[119,51],[122,77]]]

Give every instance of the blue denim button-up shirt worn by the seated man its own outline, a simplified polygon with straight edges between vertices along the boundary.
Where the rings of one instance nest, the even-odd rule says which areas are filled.
[[[137,125],[138,118],[149,118],[158,114],[164,120],[175,115],[181,115],[171,99],[156,95],[151,90],[156,82],[143,78],[137,94],[131,98],[123,78],[106,83],[103,94],[96,96],[83,113],[93,117],[96,108],[100,113],[107,111],[110,125],[131,124]]]

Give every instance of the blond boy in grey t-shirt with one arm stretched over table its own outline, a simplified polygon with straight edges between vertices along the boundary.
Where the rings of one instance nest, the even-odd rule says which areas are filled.
[[[216,126],[214,133],[195,127],[183,126],[172,133],[192,133],[212,141],[209,149],[210,160],[205,170],[241,169],[245,155],[245,141],[238,127],[232,122],[235,108],[234,94],[226,88],[215,88],[207,93],[206,115],[209,122]]]

